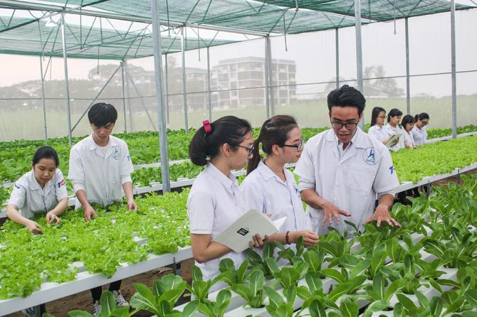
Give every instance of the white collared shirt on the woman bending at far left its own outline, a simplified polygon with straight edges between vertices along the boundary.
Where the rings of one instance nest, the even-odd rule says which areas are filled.
[[[56,168],[56,173],[41,188],[36,181],[33,170],[25,173],[15,182],[8,205],[16,205],[23,217],[30,219],[36,213],[47,213],[58,205],[62,199],[68,198],[63,173]]]

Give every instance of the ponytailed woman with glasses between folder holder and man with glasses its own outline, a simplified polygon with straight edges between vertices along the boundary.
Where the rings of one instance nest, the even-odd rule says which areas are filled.
[[[260,156],[260,144],[266,158]],[[295,119],[276,115],[263,123],[258,139],[253,142],[253,156],[248,160],[247,177],[241,183],[241,193],[248,208],[271,214],[272,220],[287,217],[280,230],[267,242],[294,244],[303,237],[305,246],[318,243],[310,219],[303,210],[300,192],[293,173],[286,163],[296,163],[305,142]]]

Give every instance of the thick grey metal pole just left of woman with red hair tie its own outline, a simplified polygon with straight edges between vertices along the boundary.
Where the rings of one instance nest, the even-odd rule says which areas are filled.
[[[162,92],[162,52],[161,28],[159,23],[158,0],[151,0],[152,41],[154,43],[154,72],[156,77],[157,121],[159,124],[159,145],[161,149],[162,192],[171,191],[169,179],[169,156],[167,153],[167,127],[165,120],[164,95]]]

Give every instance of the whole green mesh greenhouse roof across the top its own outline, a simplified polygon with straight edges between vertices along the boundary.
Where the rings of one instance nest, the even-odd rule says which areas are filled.
[[[355,0],[159,0],[159,18],[164,28],[179,26],[235,31],[256,36],[304,33],[355,25]],[[365,0],[362,23],[389,21],[450,11],[448,0]],[[456,9],[475,6],[456,4]],[[61,32],[45,19],[55,12],[104,20],[145,23],[143,29],[118,31],[102,26],[67,24],[68,56],[124,59],[153,55],[150,0],[0,0],[11,16],[0,16],[0,53],[63,55]],[[28,13],[19,16],[19,12]],[[163,53],[180,51],[180,41],[162,33]],[[187,35],[187,34],[186,34]],[[229,38],[186,39],[186,49],[236,42]]]

